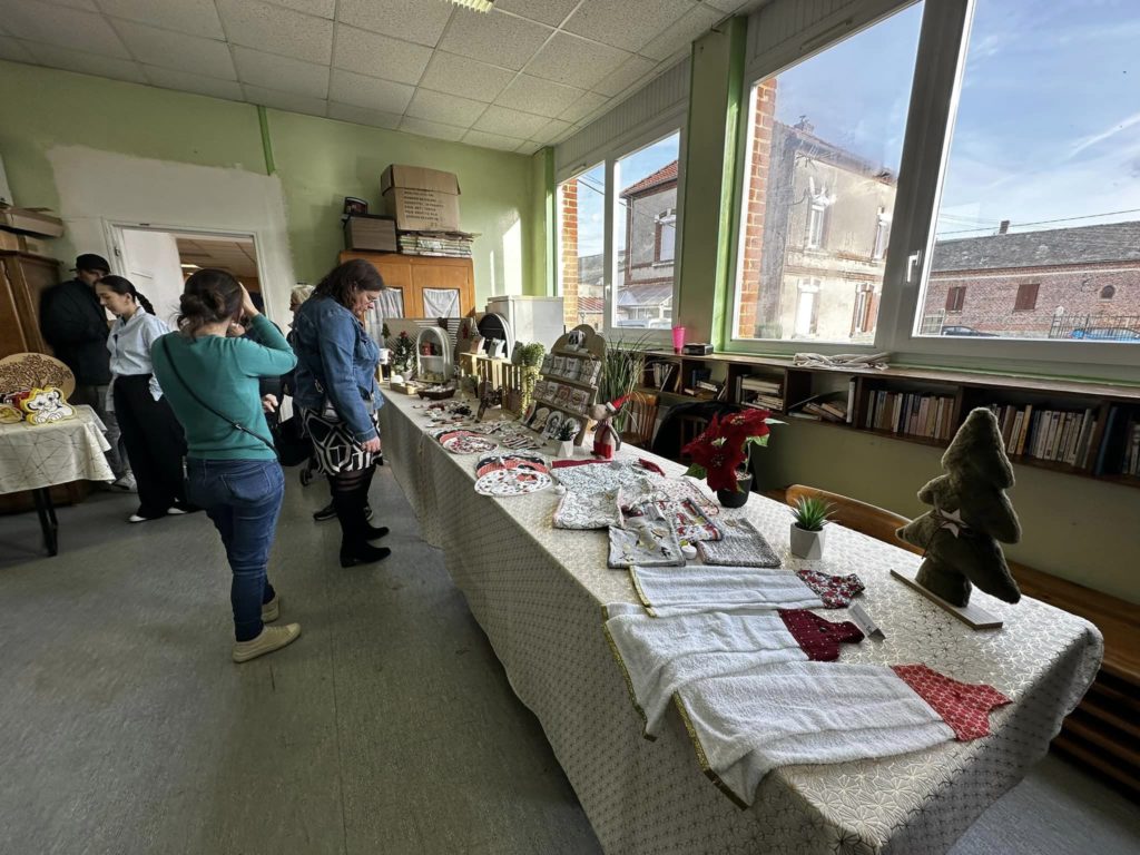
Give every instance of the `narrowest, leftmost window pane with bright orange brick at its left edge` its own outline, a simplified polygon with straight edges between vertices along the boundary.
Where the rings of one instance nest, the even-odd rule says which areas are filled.
[[[559,185],[559,293],[567,326],[601,329],[605,308],[605,164]]]

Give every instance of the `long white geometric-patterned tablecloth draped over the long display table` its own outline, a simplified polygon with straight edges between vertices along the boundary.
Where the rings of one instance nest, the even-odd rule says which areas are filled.
[[[752,495],[748,516],[789,569],[858,573],[862,605],[885,641],[845,645],[842,661],[925,662],[1012,699],[991,714],[992,734],[972,742],[880,760],[789,766],[760,784],[741,811],[700,771],[670,708],[656,742],[642,723],[602,633],[602,605],[636,602],[628,573],[605,565],[600,531],[554,529],[553,489],[488,498],[472,489],[472,455],[454,456],[427,437],[418,401],[393,393],[380,410],[384,457],[423,527],[443,549],[519,698],[542,722],[606,853],[946,852],[1047,751],[1061,719],[1096,676],[1099,632],[1035,600],[975,602],[1005,621],[974,632],[904,584],[891,567],[919,557],[857,532],[831,528],[826,556],[801,562],[788,551],[783,505]],[[773,442],[779,454],[779,438]],[[645,455],[622,449],[619,456]],[[656,459],[669,474],[677,464]],[[915,486],[935,473],[915,472]],[[828,612],[844,620],[846,610]]]

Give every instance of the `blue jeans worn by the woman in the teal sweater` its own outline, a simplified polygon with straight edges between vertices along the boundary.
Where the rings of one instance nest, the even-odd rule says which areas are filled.
[[[277,461],[187,459],[187,498],[204,507],[234,572],[229,600],[234,635],[250,641],[261,634],[261,605],[274,598],[266,576],[285,475]]]

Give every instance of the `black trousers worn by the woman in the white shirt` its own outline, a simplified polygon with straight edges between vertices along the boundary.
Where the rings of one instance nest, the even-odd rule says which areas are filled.
[[[139,514],[161,516],[186,503],[186,439],[166,399],[155,400],[149,383],[149,374],[115,377],[115,416],[139,488]]]

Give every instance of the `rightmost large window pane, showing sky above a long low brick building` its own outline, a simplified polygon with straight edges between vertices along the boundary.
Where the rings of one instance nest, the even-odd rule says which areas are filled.
[[[919,334],[1140,341],[1137,34],[1123,0],[978,0]]]

